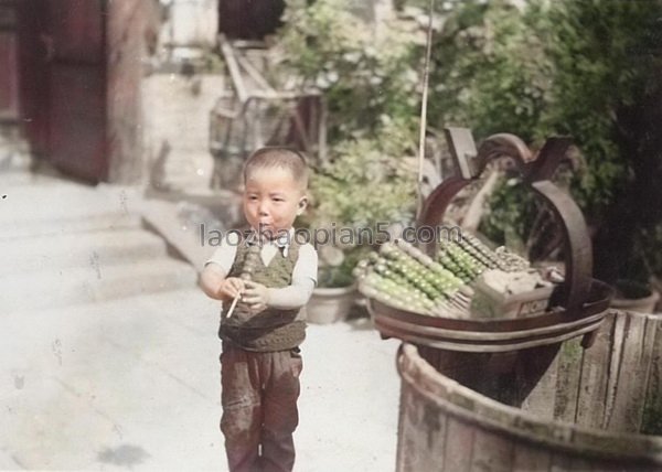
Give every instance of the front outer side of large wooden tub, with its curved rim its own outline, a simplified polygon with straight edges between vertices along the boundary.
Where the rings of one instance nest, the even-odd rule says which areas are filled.
[[[548,420],[440,374],[404,344],[397,471],[659,471],[662,438]]]

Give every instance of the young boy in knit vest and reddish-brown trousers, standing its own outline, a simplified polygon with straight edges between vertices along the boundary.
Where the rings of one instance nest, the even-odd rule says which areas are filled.
[[[231,472],[291,471],[306,336],[299,310],[318,264],[312,245],[300,244],[292,228],[308,203],[308,168],[298,152],[264,148],[246,161],[244,181],[252,233],[224,239],[201,276],[204,292],[223,301],[221,430]]]

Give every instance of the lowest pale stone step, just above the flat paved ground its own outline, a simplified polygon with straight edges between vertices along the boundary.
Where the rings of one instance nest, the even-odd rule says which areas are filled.
[[[31,311],[195,287],[191,266],[175,259],[62,268],[0,277],[0,310]]]

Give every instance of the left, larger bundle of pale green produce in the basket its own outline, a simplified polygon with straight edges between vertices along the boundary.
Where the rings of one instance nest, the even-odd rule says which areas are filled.
[[[361,292],[402,310],[467,318],[472,290],[433,258],[396,239],[361,261],[354,275]]]

